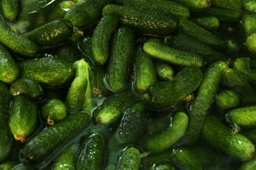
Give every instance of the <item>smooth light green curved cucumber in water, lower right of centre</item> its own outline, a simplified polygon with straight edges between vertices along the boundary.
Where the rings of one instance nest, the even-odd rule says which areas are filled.
[[[168,129],[156,135],[146,142],[146,150],[152,153],[160,153],[171,147],[186,131],[188,116],[184,112],[177,112],[173,116],[172,124]]]

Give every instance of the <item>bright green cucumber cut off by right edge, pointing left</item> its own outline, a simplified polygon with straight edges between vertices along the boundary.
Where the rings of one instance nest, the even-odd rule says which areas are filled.
[[[240,107],[229,110],[226,113],[226,121],[231,124],[236,124],[241,128],[256,127],[256,106]]]

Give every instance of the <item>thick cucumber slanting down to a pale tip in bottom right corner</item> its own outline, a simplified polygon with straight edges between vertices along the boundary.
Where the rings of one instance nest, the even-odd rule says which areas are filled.
[[[240,133],[232,134],[229,127],[213,116],[205,119],[202,136],[220,152],[240,161],[250,160],[255,152],[255,146],[249,139]]]

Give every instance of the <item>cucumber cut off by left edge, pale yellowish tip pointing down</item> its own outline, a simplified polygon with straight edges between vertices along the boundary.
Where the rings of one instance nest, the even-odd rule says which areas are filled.
[[[18,77],[18,65],[7,49],[0,44],[0,80],[13,82]]]

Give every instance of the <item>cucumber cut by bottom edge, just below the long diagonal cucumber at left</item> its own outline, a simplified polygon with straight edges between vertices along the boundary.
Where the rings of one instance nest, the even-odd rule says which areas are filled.
[[[77,142],[70,144],[70,146],[65,148],[58,155],[58,157],[54,159],[52,169],[53,170],[60,170],[60,169],[74,170],[76,166],[78,150],[79,150],[79,144]]]

